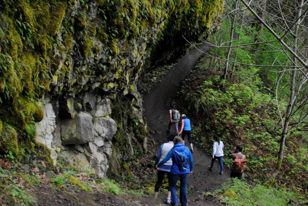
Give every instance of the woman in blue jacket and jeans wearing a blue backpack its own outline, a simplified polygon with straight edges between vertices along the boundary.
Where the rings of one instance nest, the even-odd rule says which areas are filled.
[[[176,183],[180,179],[180,203],[182,206],[187,205],[187,178],[189,173],[193,173],[193,156],[188,147],[183,143],[180,136],[173,139],[174,146],[168,152],[167,156],[161,160],[155,167],[159,169],[170,158],[172,158],[172,166],[170,170],[170,192],[171,192],[171,205],[177,206],[178,199],[176,196]],[[180,161],[180,156],[186,156],[186,159]],[[189,163],[188,163],[189,162]],[[183,167],[184,165],[184,167]]]

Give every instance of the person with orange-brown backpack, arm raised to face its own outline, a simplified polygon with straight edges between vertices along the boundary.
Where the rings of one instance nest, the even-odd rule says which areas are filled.
[[[237,145],[233,148],[233,151],[229,153],[229,157],[233,160],[230,178],[237,177],[239,180],[242,179],[243,168],[246,162],[246,156],[242,154],[243,146]]]

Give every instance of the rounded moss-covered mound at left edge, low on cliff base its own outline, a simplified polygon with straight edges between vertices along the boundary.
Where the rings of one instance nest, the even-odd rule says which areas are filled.
[[[8,125],[4,124],[0,136],[1,147],[5,153],[12,151],[13,156],[18,159],[18,141],[16,130]]]

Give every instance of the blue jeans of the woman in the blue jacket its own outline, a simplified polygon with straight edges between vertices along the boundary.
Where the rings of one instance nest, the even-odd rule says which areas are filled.
[[[188,174],[174,175],[170,178],[171,205],[177,205],[176,182],[180,179],[180,203],[182,206],[187,205],[187,178]]]

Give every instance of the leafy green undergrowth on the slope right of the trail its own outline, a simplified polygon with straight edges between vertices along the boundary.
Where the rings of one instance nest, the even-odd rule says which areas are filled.
[[[191,118],[194,142],[209,155],[214,134],[219,135],[225,143],[224,151],[232,151],[234,146],[243,145],[243,153],[248,160],[244,170],[244,184],[247,185],[239,188],[247,188],[241,189],[244,193],[249,191],[247,194],[252,195],[248,185],[264,192],[260,194],[274,194],[270,192],[274,189],[283,191],[282,196],[293,196],[290,199],[297,199],[296,204],[307,204],[307,134],[303,131],[288,134],[281,172],[275,180],[270,179],[277,162],[282,130],[273,94],[265,89],[256,68],[248,70],[237,67],[232,78],[224,80],[221,69],[224,63],[213,61],[210,57],[199,61],[173,102],[181,113]],[[221,67],[212,67],[217,64]],[[230,168],[232,163],[224,158],[224,164]],[[225,189],[228,188],[230,185]],[[236,193],[241,191],[235,190]],[[241,196],[244,198],[243,194]],[[270,199],[278,196],[265,199],[268,199],[269,205],[273,205]],[[235,199],[228,197],[226,203],[232,205],[244,201],[248,205],[267,205],[251,204],[239,197]],[[293,205],[293,200],[286,203]]]

